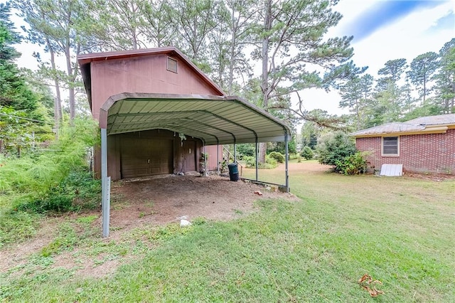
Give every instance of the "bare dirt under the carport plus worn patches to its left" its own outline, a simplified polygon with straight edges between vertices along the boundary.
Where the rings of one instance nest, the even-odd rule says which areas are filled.
[[[112,183],[110,235],[107,239],[97,238],[101,234],[100,208],[88,213],[68,213],[58,218],[46,218],[41,229],[31,240],[16,243],[0,250],[0,272],[7,272],[18,265],[27,265],[33,255],[39,254],[46,245],[53,242],[58,235],[58,226],[69,224],[75,230],[75,237],[83,239],[87,228],[99,230],[92,240],[105,245],[125,245],[129,243],[129,231],[134,228],[153,228],[156,225],[180,222],[181,218],[193,220],[203,217],[208,220],[231,220],[240,218],[255,211],[259,198],[285,198],[298,201],[291,193],[282,193],[277,186],[268,188],[245,181],[230,181],[218,175],[200,176],[160,176],[122,180]],[[260,194],[258,194],[260,193]],[[82,227],[81,217],[97,216],[89,225]],[[93,237],[90,233],[89,237]],[[75,243],[75,247],[53,255],[51,268],[62,267],[74,270],[80,277],[102,277],[110,275],[123,262],[130,262],[127,257],[93,255],[90,247]],[[126,248],[128,250],[128,248]],[[90,255],[90,253],[91,255]],[[95,261],[96,264],[95,264]],[[49,267],[49,268],[50,268]],[[19,270],[14,275],[21,275]]]

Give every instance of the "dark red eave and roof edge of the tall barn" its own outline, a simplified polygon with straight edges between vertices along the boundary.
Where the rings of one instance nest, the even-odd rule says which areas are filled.
[[[95,61],[105,61],[105,60],[116,60],[116,59],[123,59],[123,58],[132,58],[132,57],[143,57],[146,55],[157,55],[157,54],[171,54],[176,55],[177,57],[181,58],[184,62],[186,62],[191,69],[193,69],[203,80],[205,83],[208,83],[211,87],[213,87],[220,95],[226,95],[226,93],[215,83],[213,80],[208,78],[205,73],[200,70],[191,60],[184,55],[181,50],[174,46],[167,46],[162,48],[141,48],[138,50],[121,50],[121,51],[111,51],[111,52],[104,52],[104,53],[86,53],[82,55],[77,55],[77,63],[79,63],[79,67],[82,74],[82,80],[85,83],[85,90],[87,92],[87,97],[90,103],[90,109],[92,108],[92,81],[90,75],[90,63]],[[87,75],[88,73],[88,75]]]

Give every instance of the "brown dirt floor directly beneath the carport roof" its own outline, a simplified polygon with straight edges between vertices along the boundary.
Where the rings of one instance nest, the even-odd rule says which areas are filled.
[[[211,175],[165,176],[114,182],[111,226],[166,224],[181,218],[230,220],[254,210],[258,198],[295,198],[245,181]],[[259,196],[259,191],[262,195]]]

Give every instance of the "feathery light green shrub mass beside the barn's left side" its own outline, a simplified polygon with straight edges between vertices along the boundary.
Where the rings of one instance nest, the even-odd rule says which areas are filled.
[[[75,119],[72,126],[60,129],[60,139],[48,149],[1,159],[0,193],[18,196],[15,201],[9,199],[9,206],[38,213],[73,210],[87,201],[92,204],[90,195],[99,193],[100,184],[92,179],[85,156],[96,141],[95,122]]]

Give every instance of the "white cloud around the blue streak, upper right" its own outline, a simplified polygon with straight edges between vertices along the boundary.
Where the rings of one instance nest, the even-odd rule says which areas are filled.
[[[351,20],[362,15],[375,5],[377,1],[340,1],[336,11],[343,14],[343,19],[336,28],[332,28],[328,36],[350,36],[343,33]],[[378,70],[387,60],[406,58],[408,64],[413,58],[428,51],[438,52],[444,43],[455,37],[454,28],[435,28],[438,20],[451,14],[454,16],[454,3],[442,2],[432,9],[417,9],[404,18],[400,18],[388,26],[380,28],[360,42],[353,41],[353,61],[358,66],[369,66],[367,73],[378,75]],[[455,18],[455,16],[454,16]],[[362,24],[358,24],[362,26]],[[326,93],[324,90],[308,90],[303,95],[306,110],[320,108],[329,114],[342,115],[348,110],[338,108],[341,100],[337,92]],[[294,98],[293,98],[294,100]],[[296,102],[296,100],[294,100]]]

